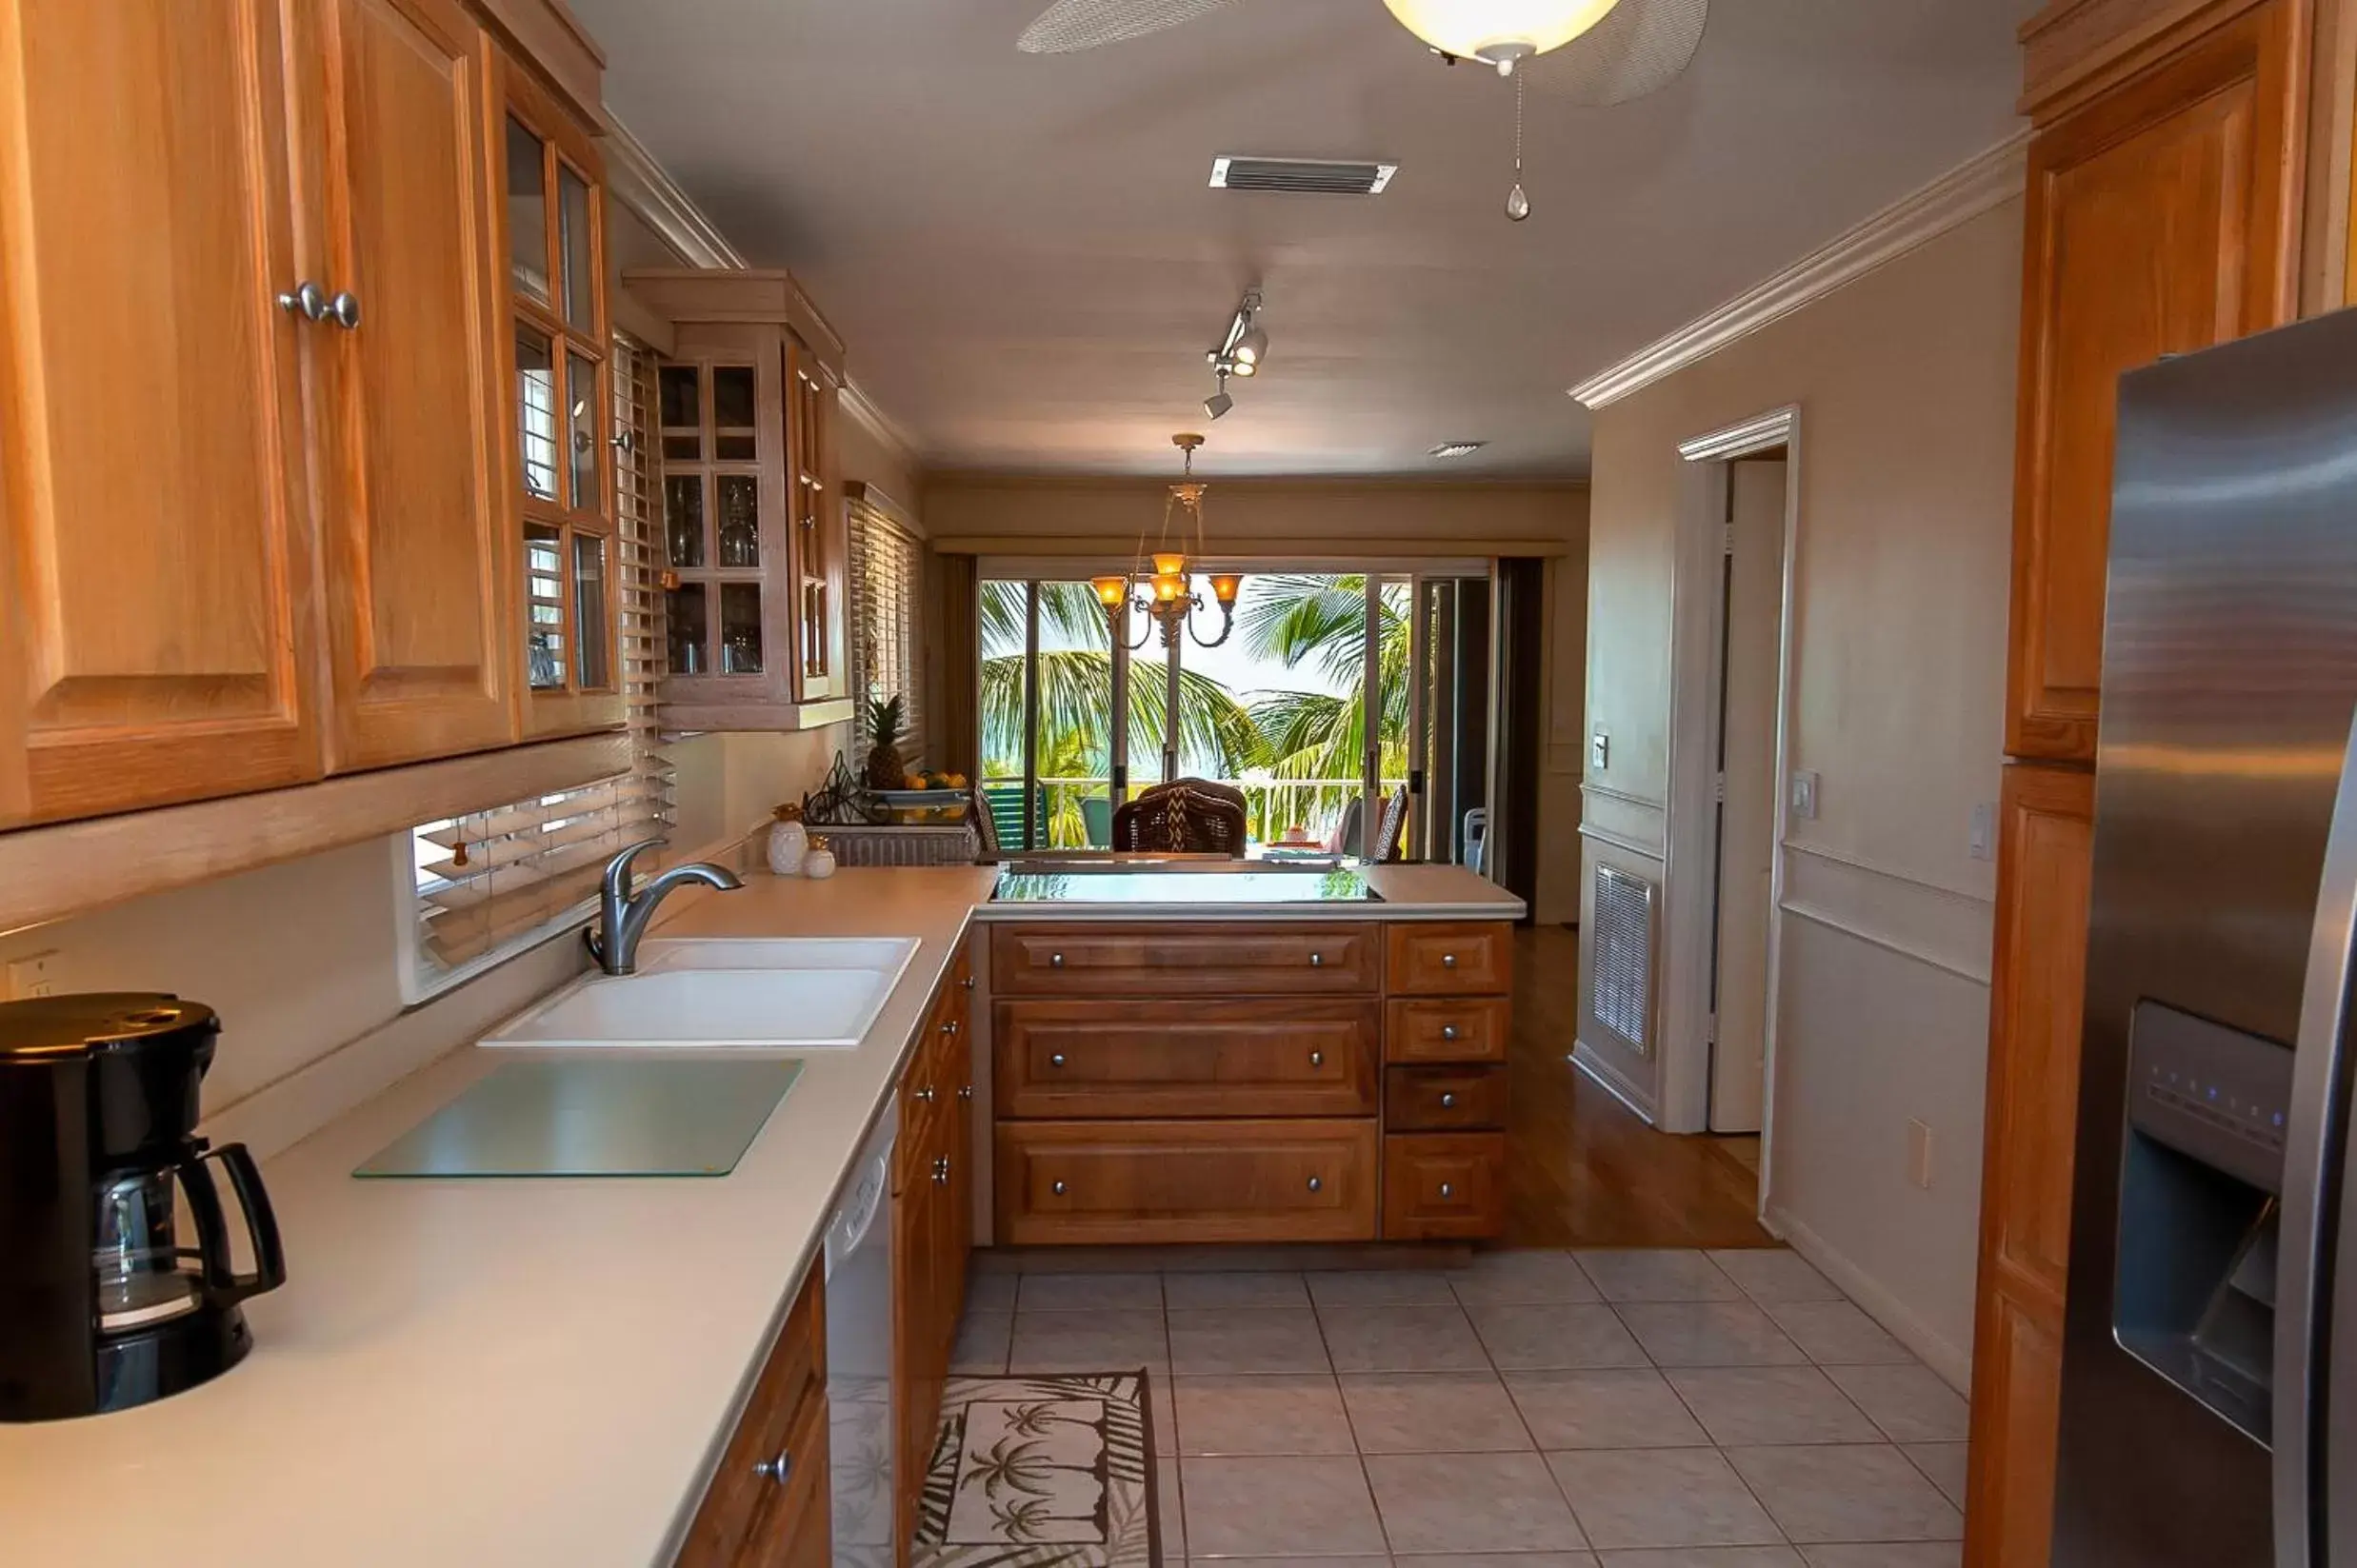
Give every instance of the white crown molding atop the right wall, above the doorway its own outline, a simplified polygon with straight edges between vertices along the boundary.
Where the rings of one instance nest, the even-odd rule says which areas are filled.
[[[1586,408],[1610,408],[1633,391],[1697,365],[1730,342],[1848,288],[1876,266],[1928,245],[1949,229],[2013,200],[2029,182],[2029,132],[2013,134],[1949,170],[1921,191],[1895,200],[1815,255],[1728,299],[1709,316],[1638,349],[1617,365],[1572,387]]]

